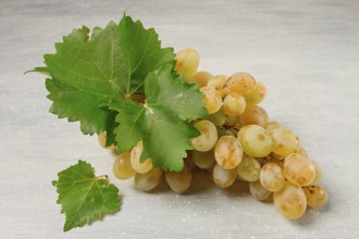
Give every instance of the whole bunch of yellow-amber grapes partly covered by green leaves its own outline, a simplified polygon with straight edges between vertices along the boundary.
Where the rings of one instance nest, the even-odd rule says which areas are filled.
[[[232,76],[197,72],[199,54],[185,49],[176,54],[175,71],[186,81],[197,84],[205,95],[206,118],[194,122],[200,136],[190,139],[182,172],[165,172],[153,167],[149,158],[139,159],[143,142],[116,156],[114,175],[120,179],[135,177],[140,191],[149,191],[164,178],[170,188],[183,193],[191,183],[195,168],[210,172],[214,184],[227,188],[234,181],[249,184],[249,191],[258,200],[273,200],[285,217],[296,219],[307,206],[321,207],[327,192],[318,185],[321,169],[308,158],[295,133],[277,122],[270,122],[265,110],[258,104],[265,98],[265,86],[248,73]],[[104,144],[106,135],[100,135]]]

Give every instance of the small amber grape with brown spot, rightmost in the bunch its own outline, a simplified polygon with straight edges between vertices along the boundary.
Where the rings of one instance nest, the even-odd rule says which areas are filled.
[[[311,185],[302,188],[307,197],[307,203],[309,206],[319,209],[325,205],[327,202],[327,192],[319,185]]]

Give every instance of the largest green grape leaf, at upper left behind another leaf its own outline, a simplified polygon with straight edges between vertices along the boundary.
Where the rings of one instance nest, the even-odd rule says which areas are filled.
[[[90,37],[89,37],[90,36]],[[124,15],[120,24],[103,29],[74,29],[46,54],[45,67],[33,71],[49,75],[46,87],[53,102],[50,112],[69,122],[81,122],[84,134],[113,130],[112,99],[144,92],[144,81],[161,65],[174,64],[172,48],[161,48],[153,28]],[[110,143],[110,142],[108,142]]]

